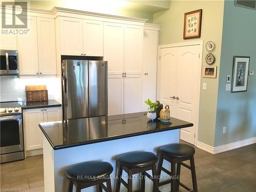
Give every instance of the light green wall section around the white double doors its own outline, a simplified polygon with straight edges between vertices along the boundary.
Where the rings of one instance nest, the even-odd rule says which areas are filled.
[[[183,39],[184,13],[202,9],[202,30],[201,38]],[[155,13],[153,23],[160,24],[159,45],[172,44],[192,40],[212,40],[216,43],[217,49],[214,52],[217,66],[217,78],[202,78],[202,83],[207,83],[207,90],[201,90],[200,94],[200,119],[198,140],[205,144],[214,146],[215,142],[215,123],[217,112],[217,96],[219,84],[219,66],[221,56],[221,39],[223,26],[224,1],[171,1],[170,9]],[[203,49],[202,65],[207,51]]]

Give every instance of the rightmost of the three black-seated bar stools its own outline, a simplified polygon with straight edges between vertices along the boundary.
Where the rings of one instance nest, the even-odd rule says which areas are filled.
[[[183,144],[183,143],[173,143],[160,147],[160,158],[157,168],[158,176],[161,175],[161,170],[172,176],[170,180],[163,181],[159,183],[158,186],[162,186],[168,183],[171,183],[171,192],[175,192],[179,190],[179,186],[181,185],[188,191],[197,192],[197,178],[196,178],[196,168],[194,161],[195,148],[193,146]],[[171,163],[171,172],[163,167],[163,160],[166,160]],[[190,166],[183,163],[183,161],[189,160]],[[176,164],[177,164],[177,173],[176,173]],[[180,167],[181,165],[191,170],[191,177],[193,182],[193,190],[180,182]],[[175,181],[175,177],[177,177],[177,181]],[[158,180],[159,182],[159,180]]]

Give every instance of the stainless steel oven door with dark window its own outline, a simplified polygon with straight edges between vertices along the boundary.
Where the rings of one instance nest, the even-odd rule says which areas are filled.
[[[1,155],[24,150],[22,115],[0,117]]]

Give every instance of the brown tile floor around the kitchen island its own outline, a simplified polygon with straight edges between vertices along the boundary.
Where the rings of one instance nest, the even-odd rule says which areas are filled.
[[[195,148],[199,192],[256,192],[256,144],[217,155]],[[29,192],[44,191],[41,155],[1,164],[0,171],[1,191],[7,188],[25,188]],[[191,187],[188,169],[182,167],[180,178],[181,182]],[[180,191],[186,190],[181,187]]]

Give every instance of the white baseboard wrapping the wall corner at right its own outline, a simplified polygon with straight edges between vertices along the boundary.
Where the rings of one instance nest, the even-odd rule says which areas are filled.
[[[256,137],[253,137],[253,138],[250,138],[250,139],[245,139],[245,140],[242,140],[242,141],[229,143],[229,144],[226,144],[226,145],[217,146],[217,147],[212,147],[210,145],[207,145],[205,143],[202,143],[202,142],[198,141],[197,142],[197,147],[200,148],[201,150],[204,150],[204,151],[208,152],[208,153],[218,154],[218,153],[233,150],[235,148],[239,148],[239,147],[242,147],[242,146],[250,145],[250,144],[253,144],[253,143],[256,143]]]

